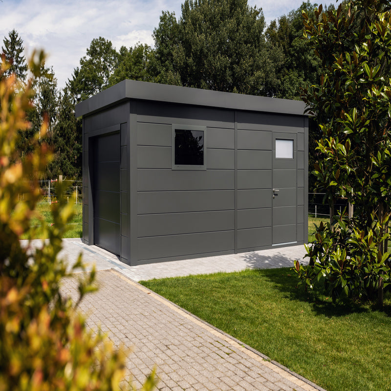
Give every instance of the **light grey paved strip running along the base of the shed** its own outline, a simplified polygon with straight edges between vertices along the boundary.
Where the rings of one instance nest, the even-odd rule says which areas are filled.
[[[32,245],[39,246],[40,240],[33,240]],[[215,272],[233,272],[247,268],[292,267],[294,260],[306,263],[304,245],[268,250],[252,251],[241,254],[196,258],[191,260],[159,262],[146,265],[129,266],[108,251],[98,246],[88,246],[81,239],[64,239],[61,257],[73,264],[80,253],[88,268],[95,265],[96,270],[114,268],[134,281],[153,278],[187,276],[191,274],[208,274]],[[87,269],[88,269],[87,268]]]

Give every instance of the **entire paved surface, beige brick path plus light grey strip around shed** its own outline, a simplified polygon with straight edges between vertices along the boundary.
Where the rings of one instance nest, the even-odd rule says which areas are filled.
[[[72,256],[80,251],[88,254],[88,261],[95,261],[100,289],[87,295],[80,309],[88,318],[87,326],[94,332],[100,325],[116,345],[125,344],[132,349],[126,363],[135,385],[141,385],[156,365],[161,379],[159,390],[315,391],[307,383],[301,387],[300,381],[292,382],[290,373],[263,361],[234,340],[124,277],[137,280],[137,276],[151,279],[276,267],[301,259],[305,254],[304,246],[128,266],[105,250],[84,245],[80,239],[64,239],[64,244],[69,264]],[[66,279],[63,291],[76,300],[76,279]]]

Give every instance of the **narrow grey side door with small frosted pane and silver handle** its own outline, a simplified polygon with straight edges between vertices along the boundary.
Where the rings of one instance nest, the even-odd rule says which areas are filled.
[[[273,132],[272,243],[297,241],[297,134]]]

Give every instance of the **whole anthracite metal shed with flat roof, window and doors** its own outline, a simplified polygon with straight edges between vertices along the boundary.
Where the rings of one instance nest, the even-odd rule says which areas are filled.
[[[125,80],[83,116],[83,241],[130,265],[307,239],[304,103]]]

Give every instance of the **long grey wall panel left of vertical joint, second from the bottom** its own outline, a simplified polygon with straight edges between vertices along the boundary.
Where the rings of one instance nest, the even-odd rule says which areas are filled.
[[[234,229],[234,211],[137,216],[137,236],[163,236]]]

